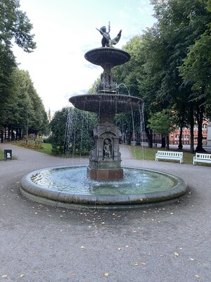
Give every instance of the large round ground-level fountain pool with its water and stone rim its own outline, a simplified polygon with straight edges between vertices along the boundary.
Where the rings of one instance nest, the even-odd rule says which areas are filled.
[[[188,186],[179,177],[142,168],[124,168],[124,179],[96,181],[86,166],[46,168],[24,176],[20,192],[30,200],[66,208],[136,208],[174,200]]]

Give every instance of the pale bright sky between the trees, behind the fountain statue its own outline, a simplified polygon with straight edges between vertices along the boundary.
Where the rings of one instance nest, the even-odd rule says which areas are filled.
[[[110,21],[110,37],[122,30],[122,48],[155,23],[150,0],[20,0],[20,10],[33,25],[37,49],[28,54],[14,45],[18,67],[28,71],[34,87],[51,114],[70,106],[69,98],[86,93],[103,72],[84,59],[101,47],[97,28]]]

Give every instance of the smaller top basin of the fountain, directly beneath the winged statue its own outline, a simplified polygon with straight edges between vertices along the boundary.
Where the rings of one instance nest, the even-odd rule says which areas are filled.
[[[94,65],[103,66],[106,63],[111,66],[119,66],[130,60],[130,55],[122,49],[113,47],[101,47],[88,51],[85,59]]]

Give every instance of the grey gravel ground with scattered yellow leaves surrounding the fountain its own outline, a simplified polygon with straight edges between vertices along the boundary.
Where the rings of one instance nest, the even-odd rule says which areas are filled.
[[[38,168],[87,164],[1,144],[17,159],[0,162],[0,281],[211,281],[211,168],[135,161],[124,165],[181,176],[188,195],[174,204],[129,211],[72,211],[30,202],[20,179]]]

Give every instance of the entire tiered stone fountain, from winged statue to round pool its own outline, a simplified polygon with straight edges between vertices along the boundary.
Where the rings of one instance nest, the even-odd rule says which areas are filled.
[[[46,168],[24,176],[20,192],[31,200],[58,207],[120,208],[175,199],[187,191],[181,178],[141,168],[122,168],[119,141],[122,133],[114,123],[115,114],[140,111],[142,100],[118,92],[112,68],[127,63],[130,55],[114,48],[120,40],[110,39],[106,27],[100,30],[102,47],[85,54],[87,61],[103,68],[96,94],[82,94],[70,102],[83,111],[98,115],[93,130],[94,147],[89,166]],[[141,115],[140,115],[141,116]]]

